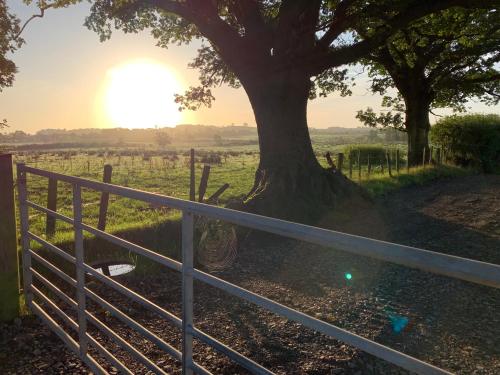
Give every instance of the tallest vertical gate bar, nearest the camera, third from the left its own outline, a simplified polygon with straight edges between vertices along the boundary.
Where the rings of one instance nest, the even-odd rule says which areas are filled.
[[[193,365],[193,214],[182,212],[182,374]]]

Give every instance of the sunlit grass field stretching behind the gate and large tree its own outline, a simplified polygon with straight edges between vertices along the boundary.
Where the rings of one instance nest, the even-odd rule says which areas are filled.
[[[356,145],[352,146],[353,148]],[[328,146],[326,142],[315,144],[315,151],[320,162],[327,166],[322,156],[326,151],[332,155],[342,152],[346,145]],[[404,150],[403,150],[404,152]],[[148,150],[144,149],[89,149],[58,150],[38,153],[18,153],[16,162],[63,174],[83,178],[102,180],[105,164],[113,166],[112,183],[149,192],[165,194],[182,199],[189,197],[189,151],[188,150]],[[221,196],[219,204],[224,205],[233,199],[241,199],[253,183],[254,172],[258,166],[259,155],[255,147],[237,147],[222,151],[217,147],[203,147],[196,153],[196,181],[199,183],[204,165],[211,165],[210,179],[206,197],[213,194],[224,183],[230,188]],[[361,161],[361,175],[357,160],[353,161],[352,179],[364,186],[374,196],[385,194],[411,184],[421,184],[430,179],[464,173],[452,167],[412,168],[407,173],[403,165],[400,174],[393,170],[393,176],[387,173],[387,166],[372,165],[368,175],[367,165]],[[348,175],[348,162],[344,163],[344,173]],[[394,167],[393,167],[394,169]],[[384,173],[382,173],[384,172]],[[30,177],[28,182],[29,199],[45,206],[47,204],[47,179]],[[100,194],[83,190],[85,221],[97,225]],[[72,216],[71,186],[58,184],[57,210]],[[179,213],[173,210],[152,207],[143,202],[111,196],[107,230],[111,232],[127,231],[143,227],[154,227],[166,220],[176,220]],[[45,233],[45,215],[30,210],[31,228],[35,233]],[[72,236],[72,228],[57,221],[55,242],[65,241]]]

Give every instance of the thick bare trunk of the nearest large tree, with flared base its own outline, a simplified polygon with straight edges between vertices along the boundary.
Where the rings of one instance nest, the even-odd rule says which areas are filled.
[[[318,163],[307,127],[310,80],[296,72],[243,81],[257,123],[260,162],[243,209],[312,222],[340,194],[347,178]]]

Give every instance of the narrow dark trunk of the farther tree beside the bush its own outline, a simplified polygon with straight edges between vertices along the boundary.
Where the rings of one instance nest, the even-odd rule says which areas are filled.
[[[405,99],[405,127],[408,133],[408,162],[411,166],[421,165],[423,153],[429,155],[430,101],[426,95],[412,95]],[[426,157],[427,158],[427,157]],[[427,158],[428,160],[428,158]]]

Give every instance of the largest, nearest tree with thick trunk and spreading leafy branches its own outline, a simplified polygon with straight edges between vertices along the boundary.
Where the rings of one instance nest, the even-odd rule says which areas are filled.
[[[56,1],[57,6],[74,2]],[[346,70],[340,67],[365,57],[410,22],[451,6],[477,5],[475,0],[101,0],[92,1],[86,24],[102,40],[113,28],[151,30],[162,47],[201,39],[192,63],[201,85],[178,96],[178,103],[191,109],[210,105],[212,87],[242,86],[260,146],[247,209],[298,219],[350,189],[314,155],[308,99],[333,90],[347,93]],[[367,22],[372,32],[357,38],[353,30]]]

